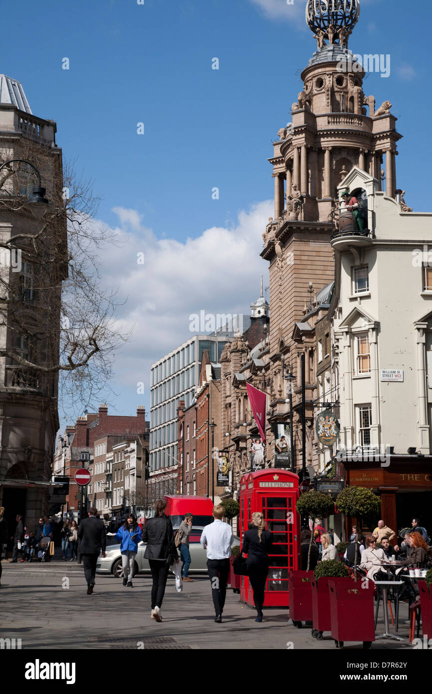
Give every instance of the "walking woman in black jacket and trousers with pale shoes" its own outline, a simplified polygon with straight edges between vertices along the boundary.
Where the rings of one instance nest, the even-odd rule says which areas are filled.
[[[160,608],[164,599],[166,579],[169,567],[180,561],[175,547],[173,526],[164,510],[166,501],[159,499],[155,502],[155,517],[149,518],[142,533],[142,541],[147,543],[144,557],[148,559],[153,578],[151,589],[151,618],[162,622]]]

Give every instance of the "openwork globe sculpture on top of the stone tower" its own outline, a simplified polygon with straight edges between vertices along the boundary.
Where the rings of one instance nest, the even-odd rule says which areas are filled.
[[[306,23],[315,34],[318,49],[327,46],[346,48],[349,34],[358,22],[360,0],[308,0]]]

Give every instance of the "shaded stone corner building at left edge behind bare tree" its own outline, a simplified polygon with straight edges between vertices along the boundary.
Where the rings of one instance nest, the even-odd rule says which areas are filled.
[[[54,121],[32,114],[21,84],[0,75],[0,505],[11,531],[16,514],[32,530],[52,508],[58,372],[49,369],[59,359],[66,219],[59,214],[51,221],[52,211],[48,223],[24,201],[35,186],[33,166],[53,210],[62,210],[62,151],[55,132]],[[19,257],[16,266],[7,261],[10,248]],[[23,366],[14,355],[47,371]]]

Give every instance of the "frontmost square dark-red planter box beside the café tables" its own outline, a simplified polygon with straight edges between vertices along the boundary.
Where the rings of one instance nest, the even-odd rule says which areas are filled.
[[[329,578],[331,636],[336,641],[375,641],[374,582]],[[367,587],[366,587],[367,586]]]

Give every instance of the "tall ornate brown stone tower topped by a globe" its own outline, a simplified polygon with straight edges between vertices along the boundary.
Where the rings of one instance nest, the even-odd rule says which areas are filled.
[[[283,368],[296,376],[293,394],[295,457],[302,457],[300,432],[300,359],[306,362],[307,464],[312,460],[313,407],[316,399],[316,355],[313,348],[313,293],[334,280],[330,246],[337,187],[352,167],[381,182],[385,165],[386,194],[395,196],[395,155],[400,139],[391,103],[375,110],[374,96],[363,92],[365,69],[348,49],[358,21],[358,0],[306,3],[306,22],[317,50],[302,71],[303,90],[291,108],[291,122],[273,142],[275,217],[263,234],[261,257],[270,263],[270,357],[268,372],[268,441],[273,453],[273,423],[289,419]],[[374,56],[368,62],[375,65]],[[378,56],[376,56],[378,58]],[[384,178],[384,176],[383,176]],[[379,183],[381,186],[381,183]],[[308,308],[309,305],[309,308]],[[284,357],[282,366],[281,356]]]

